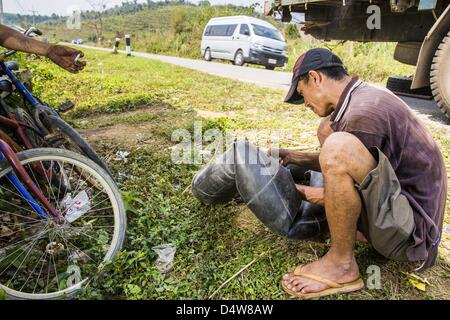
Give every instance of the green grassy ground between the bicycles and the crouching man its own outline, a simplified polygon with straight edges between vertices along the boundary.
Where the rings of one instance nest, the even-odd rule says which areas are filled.
[[[86,70],[71,75],[46,61],[31,61],[35,88],[44,100],[77,103],[68,120],[105,157],[129,205],[127,240],[115,261],[95,277],[80,299],[288,299],[283,272],[325,254],[328,242],[292,241],[267,230],[242,205],[204,206],[189,192],[199,165],[171,161],[174,129],[193,131],[193,121],[231,133],[256,130],[264,140],[277,131],[283,146],[317,150],[319,119],[303,107],[282,103],[284,92],[237,83],[137,57],[85,50]],[[280,130],[281,129],[281,130]],[[447,166],[446,128],[430,126]],[[251,139],[251,140],[252,140]],[[117,151],[129,151],[116,161]],[[450,204],[449,204],[450,205]],[[450,207],[446,222],[449,223]],[[450,240],[446,234],[446,240]],[[173,270],[154,266],[152,247],[177,246]],[[448,246],[448,241],[447,241]],[[387,261],[366,245],[356,248],[361,274],[381,268],[382,289],[326,299],[448,299],[450,256],[441,254],[426,272],[431,286],[422,293],[402,271],[411,265]]]

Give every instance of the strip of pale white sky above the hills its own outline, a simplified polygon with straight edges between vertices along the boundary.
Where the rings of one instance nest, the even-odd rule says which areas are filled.
[[[104,0],[108,5],[113,7],[120,5],[125,0]],[[155,1],[155,0],[153,0]],[[32,14],[32,10],[38,11],[36,14],[51,15],[67,15],[73,12],[73,8],[77,7],[81,10],[91,9],[89,2],[98,3],[100,0],[3,0],[3,11],[8,13]],[[138,0],[138,3],[144,3],[145,0]],[[196,3],[197,0],[191,0]],[[235,5],[251,5],[258,2],[261,6],[264,0],[209,0],[212,4],[235,4]]]

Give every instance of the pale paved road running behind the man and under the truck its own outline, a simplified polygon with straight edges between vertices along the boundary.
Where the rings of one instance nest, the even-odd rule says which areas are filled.
[[[108,48],[98,48],[86,45],[80,47],[101,51],[112,51]],[[123,50],[119,50],[124,53]],[[201,72],[213,74],[220,77],[230,78],[243,82],[253,83],[262,87],[276,88],[287,91],[291,82],[291,73],[272,71],[250,67],[239,67],[227,63],[208,62],[203,60],[163,56],[145,52],[132,52],[133,56],[147,59],[159,60],[181,67],[186,67]],[[439,110],[434,100],[416,99],[411,97],[401,97],[410,107],[415,110],[419,117],[432,126],[444,125],[450,136],[450,126],[447,126],[448,119]]]

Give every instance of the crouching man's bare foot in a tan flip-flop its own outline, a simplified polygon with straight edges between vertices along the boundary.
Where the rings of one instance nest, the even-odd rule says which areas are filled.
[[[350,261],[343,262],[330,253],[317,261],[302,266],[300,270],[341,284],[359,278],[358,264],[354,257]],[[294,272],[284,274],[283,283],[289,290],[301,293],[319,292],[329,288],[321,282],[296,276]]]

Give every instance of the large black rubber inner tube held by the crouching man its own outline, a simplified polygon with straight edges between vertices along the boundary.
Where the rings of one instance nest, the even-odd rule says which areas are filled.
[[[284,167],[249,142],[238,141],[195,175],[192,191],[208,205],[240,196],[271,231],[304,240],[328,231],[325,209],[302,200],[296,189],[295,180],[305,180],[306,175],[311,186],[323,186],[320,172]]]

